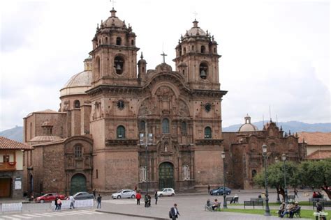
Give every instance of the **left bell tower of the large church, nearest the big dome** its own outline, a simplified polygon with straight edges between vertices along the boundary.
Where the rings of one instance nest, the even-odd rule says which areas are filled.
[[[135,33],[130,24],[116,16],[116,10],[110,10],[110,17],[96,27],[92,40],[92,86],[134,85],[137,83],[137,52]]]

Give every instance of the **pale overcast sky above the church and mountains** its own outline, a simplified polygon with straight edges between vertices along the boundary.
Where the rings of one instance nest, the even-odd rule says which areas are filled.
[[[59,109],[59,90],[83,70],[96,24],[112,3],[0,1],[0,131],[32,111]],[[195,17],[219,43],[223,126],[272,118],[330,123],[329,1],[117,0],[147,69],[175,68],[175,46]]]

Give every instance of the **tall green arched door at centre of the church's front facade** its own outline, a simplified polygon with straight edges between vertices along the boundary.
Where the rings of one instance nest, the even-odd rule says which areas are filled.
[[[174,188],[174,166],[164,162],[159,166],[159,189]]]

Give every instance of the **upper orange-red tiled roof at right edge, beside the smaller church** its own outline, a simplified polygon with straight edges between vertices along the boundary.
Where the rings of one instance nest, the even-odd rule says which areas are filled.
[[[300,132],[299,143],[304,142],[308,145],[329,145],[331,146],[331,132]]]

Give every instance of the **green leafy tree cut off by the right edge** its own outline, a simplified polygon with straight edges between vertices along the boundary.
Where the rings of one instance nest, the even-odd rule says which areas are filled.
[[[302,162],[299,173],[302,185],[321,188],[331,199],[331,159]]]

